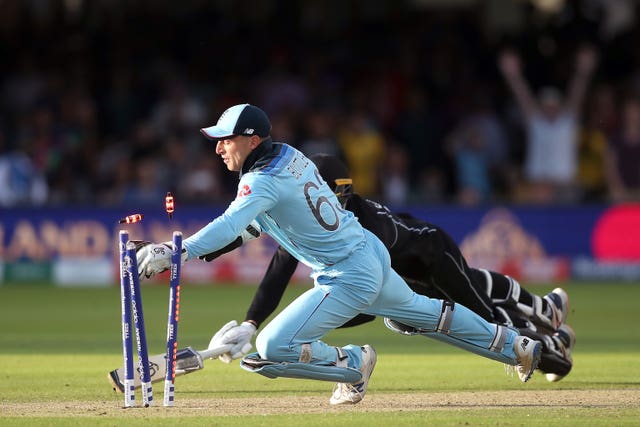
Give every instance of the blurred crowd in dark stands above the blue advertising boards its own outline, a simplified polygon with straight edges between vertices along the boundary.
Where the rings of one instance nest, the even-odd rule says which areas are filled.
[[[0,0],[0,206],[229,201],[242,102],[392,205],[640,200],[635,1],[431,3]]]

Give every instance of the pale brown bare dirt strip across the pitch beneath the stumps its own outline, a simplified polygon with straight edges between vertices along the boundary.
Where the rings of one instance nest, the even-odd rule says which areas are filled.
[[[159,399],[162,396],[158,396]],[[635,408],[640,402],[640,390],[535,390],[496,392],[437,393],[368,393],[358,405],[333,407],[327,396],[277,396],[261,398],[182,397],[173,408],[164,408],[162,401],[151,408],[123,409],[118,401],[67,401],[37,403],[3,403],[0,416],[78,417],[78,416],[238,416],[270,414],[314,414],[340,412],[433,411],[488,408]]]

